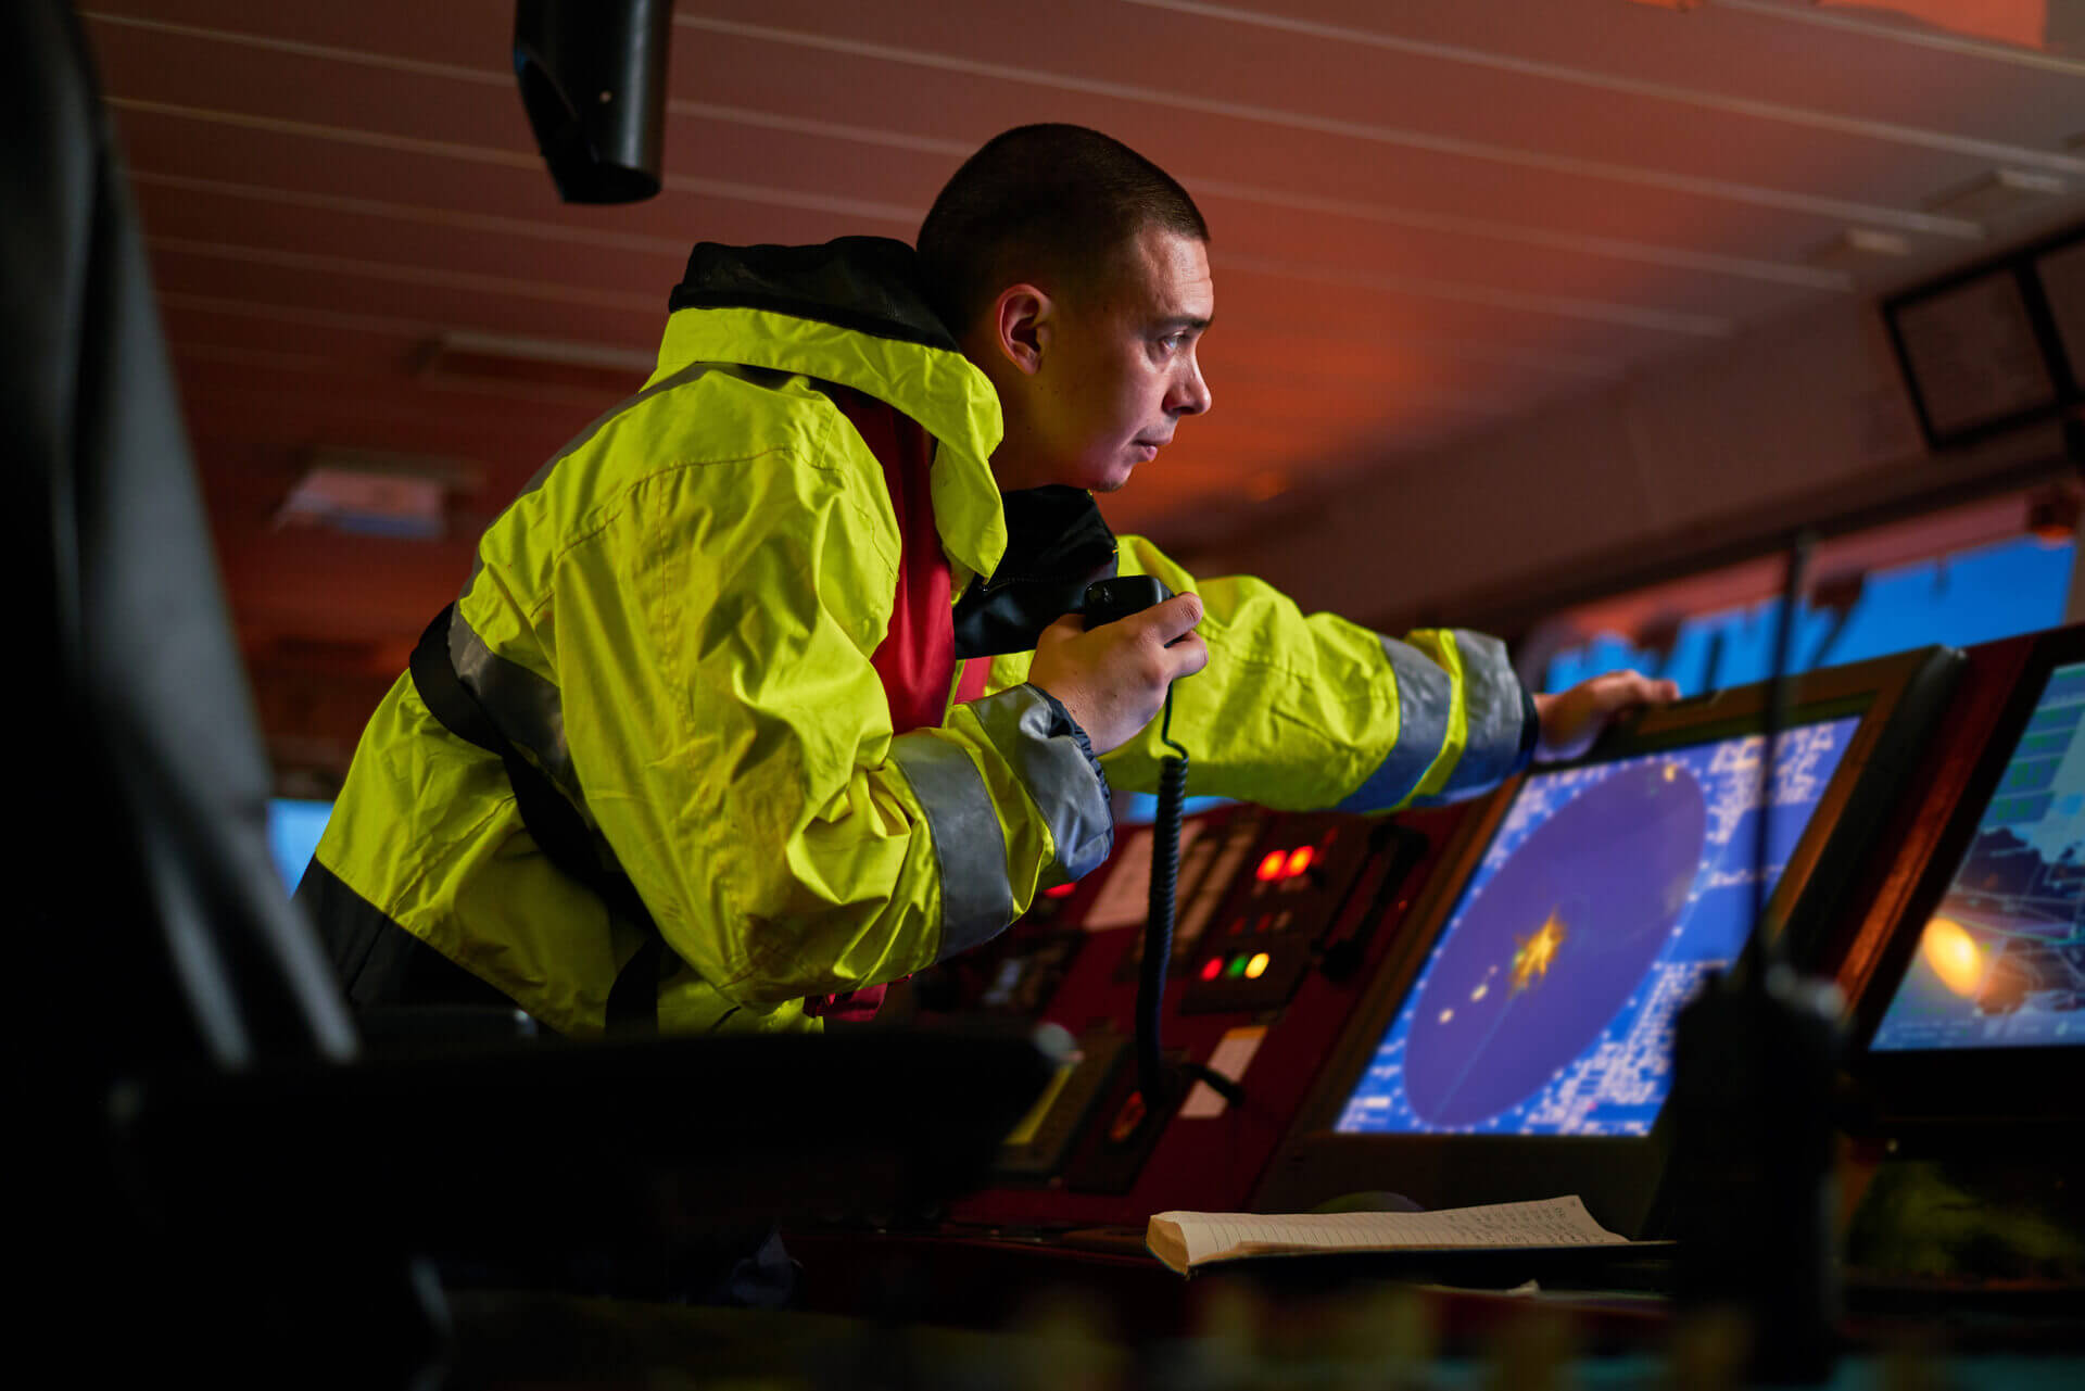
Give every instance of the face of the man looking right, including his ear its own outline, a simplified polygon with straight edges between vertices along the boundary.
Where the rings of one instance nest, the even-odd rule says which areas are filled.
[[[1005,402],[1001,488],[1130,482],[1182,415],[1209,409],[1195,350],[1213,313],[1207,248],[1163,227],[1145,227],[1105,279],[1055,298],[1038,369]]]

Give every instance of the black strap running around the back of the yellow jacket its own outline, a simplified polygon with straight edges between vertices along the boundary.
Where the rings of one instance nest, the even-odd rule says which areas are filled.
[[[644,945],[615,974],[609,986],[609,1028],[659,1028],[659,980],[665,974],[667,945],[659,934],[644,899],[621,868],[600,863],[600,851],[592,832],[580,820],[580,809],[557,790],[550,778],[530,763],[513,742],[492,724],[492,715],[477,703],[471,688],[457,676],[457,665],[448,657],[448,605],[434,615],[427,632],[419,634],[413,649],[413,688],[427,705],[427,713],[442,722],[442,728],[457,738],[477,745],[507,765],[507,782],[515,788],[515,809],[521,826],[528,828],[536,849],[550,857],[569,878],[586,884],[609,911],[626,922],[644,928]],[[676,957],[678,961],[678,957]]]

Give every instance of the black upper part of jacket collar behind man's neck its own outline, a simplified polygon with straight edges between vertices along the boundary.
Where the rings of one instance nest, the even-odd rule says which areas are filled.
[[[769,309],[955,350],[955,336],[919,286],[919,257],[905,242],[882,236],[842,236],[821,246],[696,242],[667,307]]]

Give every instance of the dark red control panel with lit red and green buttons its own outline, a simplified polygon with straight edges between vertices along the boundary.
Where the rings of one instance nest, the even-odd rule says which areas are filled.
[[[1234,1078],[1153,1107],[1136,1087],[1136,968],[1151,830],[1057,890],[990,947],[915,980],[922,1007],[995,1009],[1078,1039],[1001,1147],[959,1224],[1143,1224],[1168,1207],[1243,1207],[1339,1041],[1464,807],[1368,820],[1234,805],[1182,828],[1178,924],[1161,1007],[1170,1059]]]

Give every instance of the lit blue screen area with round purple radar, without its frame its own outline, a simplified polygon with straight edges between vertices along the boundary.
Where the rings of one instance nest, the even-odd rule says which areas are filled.
[[[1860,728],[1781,736],[1772,893]],[[1649,1134],[1672,1022],[1743,949],[1760,734],[1528,776],[1336,1128]]]

